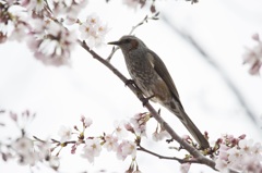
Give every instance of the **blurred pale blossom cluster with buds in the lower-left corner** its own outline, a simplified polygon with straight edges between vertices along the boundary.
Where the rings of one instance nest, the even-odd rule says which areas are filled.
[[[26,124],[31,122],[35,114],[28,110],[22,112],[21,115],[9,112],[10,119],[19,127],[17,136],[9,136],[9,140],[0,140],[0,156],[3,161],[11,159],[17,160],[21,165],[35,165],[37,162],[46,162],[52,169],[58,168],[58,158],[51,156],[51,144],[48,141],[35,143],[26,133]],[[14,131],[12,131],[14,133]]]

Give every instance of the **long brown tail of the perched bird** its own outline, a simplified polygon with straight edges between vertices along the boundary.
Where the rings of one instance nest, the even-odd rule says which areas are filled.
[[[188,116],[186,111],[183,110],[181,103],[171,101],[168,104],[164,104],[170,112],[172,112],[178,119],[182,122],[189,133],[193,136],[193,138],[198,141],[201,149],[206,149],[210,147],[207,139],[200,132],[200,129],[194,125],[191,119]]]

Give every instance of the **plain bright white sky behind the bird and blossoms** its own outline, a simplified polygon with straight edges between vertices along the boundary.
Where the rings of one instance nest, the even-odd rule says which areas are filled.
[[[140,26],[135,36],[154,50],[166,63],[180,94],[181,101],[190,118],[201,131],[207,131],[211,141],[222,134],[239,136],[261,141],[261,98],[260,76],[250,76],[248,66],[242,65],[245,47],[252,47],[251,36],[261,33],[262,1],[258,0],[201,0],[190,2],[159,0],[156,8],[160,11],[159,21],[150,21]],[[82,16],[97,13],[108,23],[110,32],[106,41],[118,40],[131,27],[150,14],[148,8],[133,10],[121,2],[91,1]],[[216,67],[174,28],[191,36],[209,54]],[[95,49],[106,58],[111,46]],[[33,58],[24,44],[8,42],[0,46],[0,108],[22,112],[28,109],[37,116],[27,126],[31,135],[39,138],[58,137],[61,125],[80,125],[80,116],[93,119],[88,133],[100,135],[114,131],[114,121],[129,120],[145,109],[133,94],[124,87],[110,71],[94,60],[85,50],[75,47],[70,66],[45,66]],[[126,76],[128,72],[120,51],[111,63]],[[239,91],[247,108],[242,107],[228,82]],[[154,104],[156,109],[159,104]],[[255,122],[247,114],[251,110]],[[177,133],[187,131],[167,110],[162,109],[165,118]],[[4,115],[8,116],[8,115]],[[0,128],[1,136],[16,136],[15,125],[4,116],[1,121],[9,126]],[[142,144],[166,156],[177,153],[167,149],[168,145],[151,139],[152,120],[147,138]],[[2,139],[1,139],[2,140]],[[172,144],[175,145],[175,144]],[[61,172],[123,172],[131,162],[116,159],[115,153],[103,151],[94,163],[80,159],[81,150],[70,155],[70,147],[61,152]],[[159,160],[139,152],[138,163],[144,173],[179,172],[176,161]],[[34,170],[36,170],[34,168]],[[27,166],[17,166],[15,161],[0,162],[0,172],[28,172]],[[37,170],[36,172],[51,172]],[[192,165],[190,172],[212,172],[204,165]]]

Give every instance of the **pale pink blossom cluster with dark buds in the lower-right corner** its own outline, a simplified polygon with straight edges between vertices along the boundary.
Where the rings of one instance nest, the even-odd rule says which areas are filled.
[[[235,138],[224,135],[217,140],[219,146],[216,158],[216,169],[221,172],[262,172],[262,145],[246,139],[246,136]]]

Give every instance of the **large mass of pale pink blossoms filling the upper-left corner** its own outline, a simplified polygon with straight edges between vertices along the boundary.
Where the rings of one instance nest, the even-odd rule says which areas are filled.
[[[80,22],[79,13],[86,3],[87,0],[0,0],[0,44],[25,41],[44,64],[68,64],[78,42],[78,33],[71,25],[85,26],[80,29],[79,39],[87,39],[91,48],[100,46],[108,32],[97,15]]]

